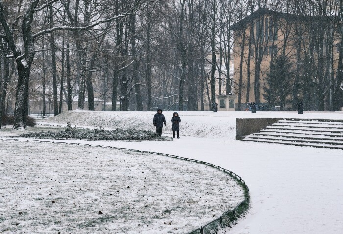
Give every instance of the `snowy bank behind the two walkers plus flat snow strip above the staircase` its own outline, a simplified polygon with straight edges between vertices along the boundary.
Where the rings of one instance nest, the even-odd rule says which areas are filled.
[[[155,131],[152,119],[156,112],[112,112],[112,111],[67,111],[45,120],[47,123],[67,124],[103,128],[133,128]],[[167,126],[162,134],[172,134],[172,113],[164,111]],[[180,135],[203,138],[235,138],[236,118],[314,118],[343,119],[343,112],[200,112],[179,111],[181,117]]]

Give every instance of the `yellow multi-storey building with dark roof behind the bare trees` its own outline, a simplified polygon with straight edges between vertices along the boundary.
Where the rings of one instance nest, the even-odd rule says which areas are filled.
[[[335,25],[334,18],[268,9],[259,9],[233,24],[233,80],[236,102],[241,110],[246,102],[267,102],[263,95],[264,88],[269,88],[266,77],[271,61],[281,55],[288,58],[296,71],[284,109],[292,108],[299,100],[304,101],[305,106],[316,100],[312,105],[318,109],[324,104],[332,105],[332,80],[341,41],[341,34],[337,33],[340,30]]]

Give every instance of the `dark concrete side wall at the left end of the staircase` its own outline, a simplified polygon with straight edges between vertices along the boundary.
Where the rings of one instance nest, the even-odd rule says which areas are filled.
[[[236,140],[243,140],[246,135],[256,133],[283,118],[236,118]]]

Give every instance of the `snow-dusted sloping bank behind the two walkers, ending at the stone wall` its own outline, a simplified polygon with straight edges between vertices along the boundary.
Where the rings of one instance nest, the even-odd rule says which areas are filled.
[[[172,134],[172,113],[163,112],[167,125],[163,128],[164,134]],[[180,135],[194,137],[234,137],[236,118],[219,116],[213,112],[180,112]],[[68,111],[52,117],[45,122],[67,124],[72,127],[91,126],[103,128],[142,129],[155,131],[152,119],[155,112],[99,112],[99,111]],[[216,121],[213,117],[219,117]]]

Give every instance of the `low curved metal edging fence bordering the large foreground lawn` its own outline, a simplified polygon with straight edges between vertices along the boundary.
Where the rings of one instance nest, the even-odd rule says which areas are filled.
[[[217,166],[211,163],[207,163],[205,161],[201,160],[196,160],[196,159],[190,159],[190,158],[185,158],[185,157],[180,157],[177,155],[172,155],[172,154],[165,154],[165,153],[159,153],[159,152],[153,152],[153,151],[143,151],[143,150],[137,150],[137,149],[128,149],[128,148],[121,148],[121,147],[114,147],[114,146],[107,146],[107,145],[98,145],[98,144],[87,144],[87,143],[73,143],[73,142],[63,142],[63,141],[50,141],[50,140],[29,140],[29,139],[16,139],[16,138],[8,138],[8,137],[1,137],[0,140],[14,140],[14,141],[25,141],[25,142],[39,142],[39,143],[53,143],[53,144],[70,144],[70,145],[81,145],[81,146],[88,146],[88,147],[100,147],[100,148],[110,148],[110,149],[117,149],[117,150],[127,150],[131,152],[139,152],[139,153],[147,153],[147,154],[156,154],[156,155],[162,155],[162,156],[167,156],[167,157],[172,157],[175,159],[180,159],[180,160],[186,160],[186,161],[191,161],[199,164],[205,164],[208,166],[211,166],[213,168],[216,168],[218,170],[221,170],[224,173],[229,174],[230,176],[234,177],[239,185],[243,187],[245,191],[245,200],[243,200],[240,204],[238,204],[236,207],[233,209],[226,211],[224,214],[221,215],[221,217],[209,222],[208,224],[204,225],[203,227],[200,227],[188,234],[217,234],[218,230],[220,227],[229,227],[231,228],[231,225],[233,222],[237,219],[240,218],[241,215],[244,215],[244,213],[248,210],[249,208],[249,188],[245,184],[245,181],[236,173],[227,170],[225,168],[222,168],[221,166]]]

